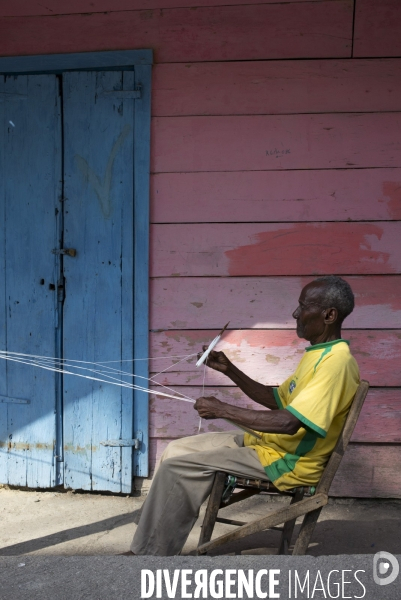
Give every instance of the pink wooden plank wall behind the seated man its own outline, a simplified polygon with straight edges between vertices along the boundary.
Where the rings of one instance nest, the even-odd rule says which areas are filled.
[[[344,275],[357,299],[344,334],[372,387],[333,493],[400,498],[401,3],[355,2],[14,0],[0,54],[154,50],[150,341],[165,359],[152,364],[230,320],[220,347],[276,385],[303,352],[302,286]],[[158,380],[201,394],[193,360]],[[206,378],[251,406],[229,383]],[[152,465],[197,432],[190,404],[154,396],[150,418]]]

